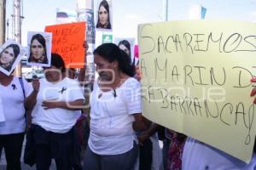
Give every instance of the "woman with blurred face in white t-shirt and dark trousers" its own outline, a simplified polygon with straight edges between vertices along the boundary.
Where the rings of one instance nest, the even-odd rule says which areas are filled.
[[[74,132],[76,110],[84,103],[79,82],[65,77],[66,69],[59,54],[51,54],[50,67],[44,67],[44,79],[32,81],[33,91],[26,99],[32,109],[33,140],[37,169],[49,169],[55,159],[58,170],[72,169],[75,158]]]

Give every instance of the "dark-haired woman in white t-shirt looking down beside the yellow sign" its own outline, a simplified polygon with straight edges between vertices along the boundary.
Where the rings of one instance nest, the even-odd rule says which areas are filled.
[[[130,170],[137,160],[135,131],[149,123],[143,119],[141,87],[134,77],[131,58],[113,43],[94,51],[99,78],[90,94],[90,137],[84,169]]]

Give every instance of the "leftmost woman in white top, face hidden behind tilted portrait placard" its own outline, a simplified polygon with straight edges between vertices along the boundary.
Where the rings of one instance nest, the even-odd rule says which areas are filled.
[[[20,155],[26,127],[24,98],[31,91],[32,88],[26,80],[19,80],[19,77],[6,76],[0,72],[0,157],[4,149],[7,169],[20,169]]]

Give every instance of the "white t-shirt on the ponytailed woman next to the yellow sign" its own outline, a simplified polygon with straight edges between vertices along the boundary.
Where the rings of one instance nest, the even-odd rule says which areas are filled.
[[[133,114],[142,112],[140,82],[128,78],[114,91],[102,92],[95,83],[90,95],[90,150],[99,155],[118,155],[131,150],[137,136]]]

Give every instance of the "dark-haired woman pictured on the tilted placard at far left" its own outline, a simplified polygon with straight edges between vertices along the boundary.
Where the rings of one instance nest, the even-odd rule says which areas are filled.
[[[19,45],[15,43],[9,44],[0,54],[0,66],[6,71],[10,71],[19,54]]]

